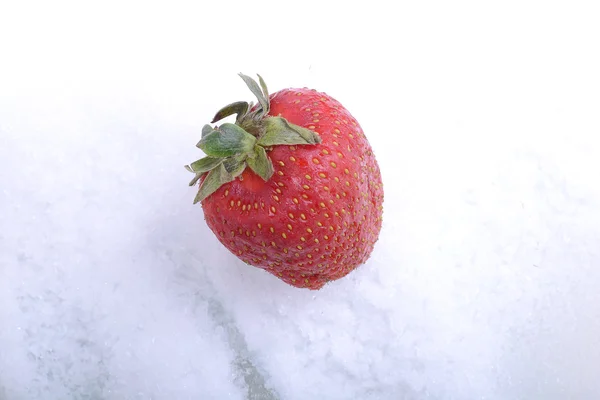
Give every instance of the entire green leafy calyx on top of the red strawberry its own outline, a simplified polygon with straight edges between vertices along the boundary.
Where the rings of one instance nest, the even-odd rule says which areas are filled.
[[[239,74],[258,103],[237,101],[221,108],[211,124],[231,115],[236,115],[235,123],[220,126],[204,125],[202,137],[196,147],[206,157],[186,165],[195,174],[190,186],[202,177],[194,204],[206,199],[222,185],[232,182],[249,167],[264,181],[274,173],[273,163],[268,152],[273,146],[316,145],[321,137],[310,129],[303,128],[282,117],[269,116],[269,91],[265,81],[258,75],[259,83],[249,76]]]

